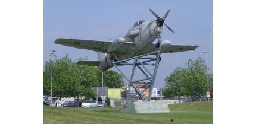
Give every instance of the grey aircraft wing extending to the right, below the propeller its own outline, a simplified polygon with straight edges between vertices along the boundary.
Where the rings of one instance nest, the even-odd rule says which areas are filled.
[[[176,53],[176,52],[184,52],[189,50],[195,50],[197,45],[181,45],[181,44],[170,44],[161,50],[161,53]],[[157,51],[158,49],[155,47],[155,44],[150,44],[148,47],[143,49],[140,54],[150,53]]]

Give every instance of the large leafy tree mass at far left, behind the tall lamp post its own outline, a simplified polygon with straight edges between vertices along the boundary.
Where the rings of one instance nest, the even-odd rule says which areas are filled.
[[[76,65],[66,55],[56,59],[53,65],[53,96],[54,97],[79,97],[94,96],[93,87],[98,84],[98,69]],[[95,76],[96,75],[96,76]],[[46,61],[43,70],[43,93],[51,94],[51,61]]]

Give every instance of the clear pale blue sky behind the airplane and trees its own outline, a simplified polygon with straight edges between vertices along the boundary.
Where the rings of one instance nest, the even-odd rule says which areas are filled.
[[[154,87],[163,88],[164,78],[177,67],[185,67],[189,59],[201,57],[207,61],[213,72],[213,5],[212,1],[64,1],[45,0],[43,3],[43,61],[49,60],[49,53],[56,50],[57,58],[68,56],[76,61],[88,56],[96,60],[97,54],[91,50],[54,44],[57,38],[110,40],[123,37],[135,21],[155,20],[149,12],[151,8],[160,17],[171,9],[165,23],[176,34],[163,27],[161,38],[171,40],[171,44],[199,45],[195,51],[165,53],[161,55]],[[156,41],[156,40],[155,40]],[[131,66],[121,66],[129,77]],[[111,68],[115,71],[117,69]],[[138,72],[135,79],[141,77]],[[126,81],[126,80],[124,80]]]

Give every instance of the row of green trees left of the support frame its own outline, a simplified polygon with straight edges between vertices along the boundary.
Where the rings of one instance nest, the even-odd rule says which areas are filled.
[[[87,59],[79,58],[77,61]],[[95,97],[95,87],[102,86],[102,71],[96,67],[77,65],[68,55],[55,59],[52,75],[52,96],[61,97]],[[115,71],[103,72],[104,86],[109,88],[123,87],[122,76]],[[51,60],[46,61],[43,66],[43,94],[51,96]]]

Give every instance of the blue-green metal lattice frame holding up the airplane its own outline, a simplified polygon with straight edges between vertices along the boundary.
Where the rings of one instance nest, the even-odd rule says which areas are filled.
[[[150,55],[155,55],[155,58],[154,57],[149,57]],[[141,61],[141,59],[145,59],[145,60]],[[134,60],[133,63],[128,63],[127,62],[127,61],[130,61],[130,60]],[[148,63],[148,62],[152,62],[152,61],[155,61],[155,63]],[[117,61],[117,62],[114,62],[114,60],[111,61],[111,63],[115,66],[115,68],[117,68],[117,70],[129,82],[129,88],[128,88],[128,91],[127,91],[127,94],[126,94],[126,103],[127,103],[128,98],[129,98],[129,93],[130,93],[130,87],[131,86],[135,89],[136,93],[138,93],[138,95],[142,98],[143,101],[150,101],[151,100],[152,88],[153,88],[154,83],[155,83],[155,77],[157,75],[157,69],[158,69],[159,62],[160,62],[160,50],[155,51],[155,52],[151,52],[151,53],[147,53],[147,54],[144,54],[144,55],[135,56],[133,58],[124,59],[124,60]],[[132,74],[130,76],[130,79],[128,77],[126,77],[126,75],[124,75],[124,73],[120,70],[120,68],[118,68],[118,65],[133,65]],[[146,65],[154,66],[153,74],[146,68]],[[146,76],[146,78],[142,78],[140,80],[133,81],[133,76],[135,74],[136,67],[139,68],[139,70]],[[149,82],[145,82],[145,80],[149,80]],[[140,82],[140,81],[144,81],[144,82]],[[143,96],[143,92],[145,90],[140,92],[138,90],[138,88],[135,87],[135,83],[137,83],[137,84],[139,84],[139,83],[149,84],[149,87],[148,87],[149,88],[149,96],[148,96],[148,98]],[[148,88],[146,88],[146,90]]]

